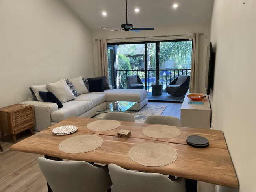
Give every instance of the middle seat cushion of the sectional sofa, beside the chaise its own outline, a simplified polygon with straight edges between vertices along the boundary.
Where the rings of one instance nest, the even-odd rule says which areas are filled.
[[[104,94],[95,94],[95,93],[82,94],[76,97],[72,101],[89,101],[91,102],[91,108],[93,108],[105,102],[106,96]]]

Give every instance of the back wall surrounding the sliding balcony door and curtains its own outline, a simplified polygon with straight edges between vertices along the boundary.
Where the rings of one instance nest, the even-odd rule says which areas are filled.
[[[95,39],[100,38],[122,38],[122,37],[146,37],[146,36],[158,36],[158,35],[178,35],[178,34],[191,34],[199,32],[204,32],[204,35],[200,35],[199,39],[199,92],[205,93],[205,86],[204,86],[204,75],[205,75],[205,64],[206,64],[206,50],[207,46],[210,42],[210,22],[207,24],[190,24],[190,25],[180,25],[180,26],[164,26],[161,28],[155,28],[154,31],[151,30],[142,30],[138,33],[136,32],[128,32],[128,31],[111,31],[108,30],[96,30],[93,31],[93,54],[94,54],[94,63],[95,63],[95,76],[98,76],[98,56],[97,56],[97,41]],[[193,36],[182,36],[182,37],[168,37],[168,38],[161,38],[161,39],[185,39],[191,38]],[[161,40],[148,38],[145,41],[152,41],[152,40]],[[128,42],[129,40],[111,40],[108,42]],[[135,41],[144,41],[144,39],[130,39],[130,42]]]

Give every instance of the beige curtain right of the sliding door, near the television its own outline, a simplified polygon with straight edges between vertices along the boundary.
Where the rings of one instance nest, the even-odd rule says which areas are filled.
[[[198,93],[199,33],[194,33],[189,92]]]

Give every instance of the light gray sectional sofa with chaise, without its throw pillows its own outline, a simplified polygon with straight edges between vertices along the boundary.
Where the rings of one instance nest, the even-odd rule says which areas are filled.
[[[63,80],[65,81],[65,79]],[[49,89],[50,87],[47,88]],[[80,88],[78,88],[78,90],[79,89]],[[58,95],[60,92],[63,94],[64,91],[62,90],[63,89],[60,91],[55,88],[52,89],[52,92],[54,92],[58,98],[61,97]],[[44,91],[46,91],[45,87]],[[79,94],[79,96],[73,97],[73,99],[69,101],[63,102],[63,100],[60,99],[63,105],[62,108],[58,108],[56,103],[44,102],[43,100],[35,101],[35,99],[29,98],[28,101],[22,102],[22,104],[34,106],[35,126],[33,129],[35,131],[46,129],[71,116],[91,118],[96,115],[96,111],[106,105],[106,102],[114,102],[116,100],[137,102],[137,104],[130,109],[135,111],[140,110],[144,105],[147,105],[148,102],[147,91],[141,89],[109,89],[103,92],[87,91],[87,93]]]

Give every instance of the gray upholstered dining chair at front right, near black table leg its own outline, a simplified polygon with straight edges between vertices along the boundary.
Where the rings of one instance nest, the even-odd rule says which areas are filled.
[[[116,192],[185,192],[185,179],[175,181],[158,173],[135,172],[109,164],[109,174]]]

